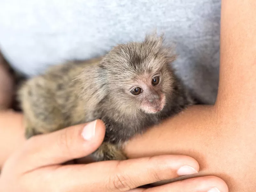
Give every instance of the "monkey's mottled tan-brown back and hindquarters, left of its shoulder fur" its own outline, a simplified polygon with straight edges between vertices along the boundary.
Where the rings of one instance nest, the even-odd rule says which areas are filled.
[[[22,85],[19,99],[27,138],[92,120],[92,108],[86,108],[79,97],[81,86],[76,77],[99,61],[100,58],[50,67]]]

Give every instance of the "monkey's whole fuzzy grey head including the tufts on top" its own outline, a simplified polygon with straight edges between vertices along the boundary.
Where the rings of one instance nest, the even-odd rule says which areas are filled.
[[[163,36],[117,45],[100,64],[109,98],[126,113],[160,112],[172,94],[174,60],[172,50],[163,46]]]

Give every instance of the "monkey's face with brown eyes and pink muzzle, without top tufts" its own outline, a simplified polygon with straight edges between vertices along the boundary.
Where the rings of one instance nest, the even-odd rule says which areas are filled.
[[[108,74],[109,96],[125,113],[162,111],[172,95],[173,74],[167,60],[149,55],[131,57],[126,67],[119,64]],[[128,63],[126,60],[126,63]]]

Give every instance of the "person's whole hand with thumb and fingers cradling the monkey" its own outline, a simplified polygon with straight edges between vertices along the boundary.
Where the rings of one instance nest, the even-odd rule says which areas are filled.
[[[91,164],[66,164],[71,159],[91,154],[103,141],[104,124],[98,120],[27,140],[4,164],[0,191],[200,191],[218,187],[227,192],[216,177],[201,177],[155,188],[142,185],[196,173],[198,163],[191,157],[165,155],[104,161]],[[136,188],[136,189],[135,189]],[[213,192],[213,191],[211,191]]]

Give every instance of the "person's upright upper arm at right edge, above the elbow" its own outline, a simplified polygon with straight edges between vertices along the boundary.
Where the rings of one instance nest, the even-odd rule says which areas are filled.
[[[223,0],[217,104],[228,113],[256,101],[256,1]]]

